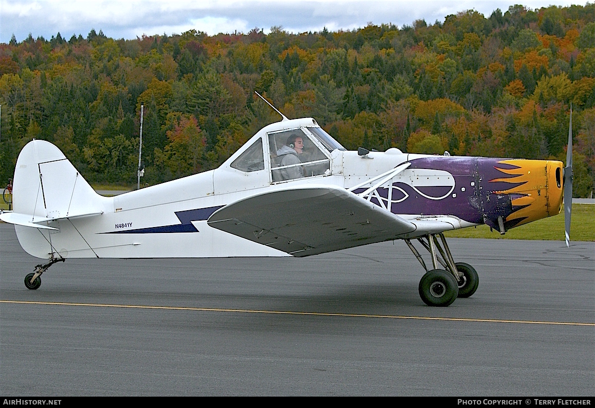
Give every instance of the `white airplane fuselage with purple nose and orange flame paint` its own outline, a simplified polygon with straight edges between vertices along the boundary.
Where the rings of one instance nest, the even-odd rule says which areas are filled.
[[[275,177],[279,174],[275,170],[278,167],[275,156],[281,151],[278,145],[287,134],[297,131],[304,139],[312,139],[309,159],[302,156],[305,162],[302,172],[306,177],[279,180]],[[78,218],[64,216],[70,210],[66,209],[68,200],[62,196],[74,197],[77,183],[76,188],[80,188],[84,180],[70,162],[62,163],[64,156],[55,146],[32,142],[45,144],[30,146],[30,152],[27,150],[29,153],[22,155],[23,159],[19,157],[23,162],[17,162],[15,171],[14,210],[45,217],[49,219],[46,225],[55,229],[15,225],[18,239],[27,252],[39,258],[52,258],[52,254],[61,258],[287,256],[273,247],[212,228],[207,220],[218,209],[248,196],[308,185],[337,186],[355,194],[365,193],[362,197],[369,202],[401,218],[414,223],[434,221],[436,226],[432,228],[436,231],[485,223],[503,233],[517,225],[558,214],[561,208],[561,162],[417,155],[394,148],[360,156],[332,146],[334,140],[327,146],[325,136],[322,139],[313,136],[317,132],[321,132],[320,127],[309,118],[268,125],[215,170],[115,197],[87,191],[85,200],[93,208],[93,214],[101,215]],[[35,155],[39,156],[36,160],[41,175],[37,176],[37,169],[27,176],[20,175],[20,171],[23,174],[29,171],[24,168],[27,166],[24,160]],[[258,160],[254,161],[253,156],[258,156]],[[405,170],[395,172],[389,180],[367,192],[379,176],[403,164],[408,165]],[[61,174],[52,176],[51,171]],[[33,183],[35,177],[38,180]],[[57,186],[64,187],[64,192],[60,198],[52,199]],[[34,193],[35,190],[39,191]],[[68,203],[69,209],[71,206]],[[292,219],[289,211],[287,221],[300,220]],[[427,233],[427,229],[412,231],[395,234],[393,238]]]

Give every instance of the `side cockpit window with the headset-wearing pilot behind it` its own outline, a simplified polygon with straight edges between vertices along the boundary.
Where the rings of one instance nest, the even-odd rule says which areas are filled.
[[[330,160],[300,128],[268,134],[273,182],[330,174]]]

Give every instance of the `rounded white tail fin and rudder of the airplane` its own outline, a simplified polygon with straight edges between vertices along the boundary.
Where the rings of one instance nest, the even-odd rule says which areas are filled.
[[[0,219],[15,224],[18,241],[27,253],[37,258],[65,258],[65,247],[73,245],[93,252],[72,220],[111,212],[113,200],[97,194],[58,147],[44,140],[27,143],[18,155],[13,186],[14,210],[1,214]],[[58,247],[54,234],[60,234]]]

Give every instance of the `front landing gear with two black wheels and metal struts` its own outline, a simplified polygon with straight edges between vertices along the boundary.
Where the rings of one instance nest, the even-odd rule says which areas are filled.
[[[405,240],[426,271],[419,281],[419,296],[426,305],[448,306],[455,302],[457,297],[469,297],[475,293],[480,283],[477,271],[468,263],[455,263],[444,234],[428,234],[417,240],[430,252],[433,266],[433,269],[428,271],[424,259],[421,258],[411,240]],[[439,268],[439,263],[444,269]]]

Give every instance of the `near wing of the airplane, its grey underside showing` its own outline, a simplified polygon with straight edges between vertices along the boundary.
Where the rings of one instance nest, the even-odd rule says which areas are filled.
[[[397,238],[412,222],[334,186],[298,186],[238,200],[214,212],[218,230],[308,256]]]

